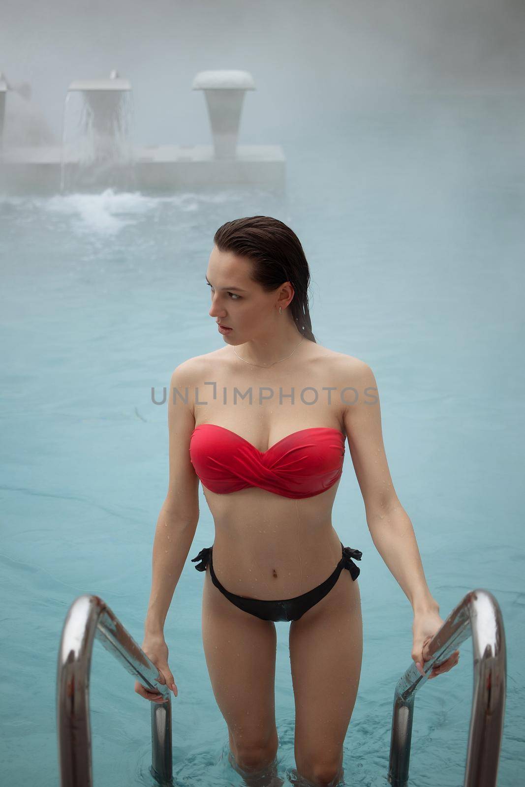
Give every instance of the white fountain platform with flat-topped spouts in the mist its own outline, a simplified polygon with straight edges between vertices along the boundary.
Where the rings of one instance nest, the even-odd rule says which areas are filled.
[[[249,72],[219,70],[199,72],[192,85],[204,91],[212,130],[212,145],[134,146],[129,168],[131,190],[172,192],[179,189],[256,186],[283,189],[286,160],[279,145],[238,145],[242,103],[246,91],[255,90]],[[99,142],[110,143],[110,128],[103,119],[118,95],[128,92],[131,83],[112,72],[109,79],[76,80],[68,94],[80,91],[94,111],[93,127]],[[66,101],[67,103],[67,101]],[[105,113],[101,113],[105,109]],[[10,193],[56,194],[64,187],[61,146],[9,148],[0,157],[0,189]],[[66,152],[68,173],[83,166],[81,157]],[[74,177],[73,177],[74,182]],[[110,183],[109,185],[113,185]]]

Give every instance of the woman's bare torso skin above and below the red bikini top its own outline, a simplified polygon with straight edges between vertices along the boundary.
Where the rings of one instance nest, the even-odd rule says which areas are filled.
[[[281,368],[244,364],[229,345],[195,358],[195,427],[224,427],[261,452],[310,427],[330,427],[345,436],[339,368],[346,356],[315,342],[303,342],[303,348]],[[250,388],[251,404],[238,395],[234,404],[234,389]],[[329,395],[329,388],[336,390]],[[268,397],[262,401],[261,390]],[[257,486],[226,494],[202,486],[215,523],[213,568],[220,582],[231,593],[268,600],[299,596],[323,582],[341,559],[331,523],[338,485],[339,480],[301,499]]]

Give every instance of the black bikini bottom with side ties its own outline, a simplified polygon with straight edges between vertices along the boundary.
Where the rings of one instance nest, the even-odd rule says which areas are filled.
[[[335,571],[333,571],[324,582],[321,582],[316,588],[309,590],[308,593],[303,593],[302,596],[286,598],[281,601],[264,601],[258,598],[235,596],[235,593],[230,593],[229,590],[220,584],[219,580],[216,578],[215,571],[213,571],[213,546],[201,549],[197,557],[191,558],[191,562],[194,563],[196,560],[201,561],[195,566],[197,571],[205,571],[209,563],[209,573],[216,588],[218,588],[223,596],[226,596],[227,600],[231,601],[232,604],[235,604],[236,607],[245,612],[249,612],[250,615],[256,615],[256,617],[261,618],[261,620],[273,620],[275,622],[279,620],[298,620],[301,615],[304,615],[306,611],[314,606],[314,604],[317,604],[318,601],[324,598],[327,593],[330,593],[331,589],[335,586],[335,582],[338,581],[343,568],[348,569],[353,580],[357,579],[360,575],[360,568],[353,562],[352,558],[355,557],[356,560],[360,560],[363,553],[360,552],[359,549],[350,549],[348,546],[341,545],[341,548],[342,558],[335,567]]]

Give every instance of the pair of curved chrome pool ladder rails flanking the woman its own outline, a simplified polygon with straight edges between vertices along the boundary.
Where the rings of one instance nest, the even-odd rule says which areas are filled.
[[[472,637],[474,694],[468,735],[464,787],[495,787],[505,693],[507,650],[501,610],[492,593],[468,593],[450,613],[428,646],[425,675]],[[172,785],[172,701],[158,682],[160,673],[111,609],[98,596],[79,596],[65,619],[57,664],[57,733],[61,787],[92,787],[89,679],[95,637],[147,689],[165,697],[151,706],[150,773],[160,785]],[[427,682],[412,662],[397,682],[390,738],[388,781],[406,787],[416,691]]]

